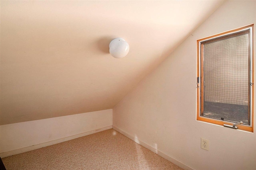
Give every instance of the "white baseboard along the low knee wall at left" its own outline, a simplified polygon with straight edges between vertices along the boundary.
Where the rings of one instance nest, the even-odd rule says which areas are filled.
[[[61,139],[56,139],[54,141],[49,141],[49,142],[46,142],[46,143],[40,143],[38,145],[33,145],[33,146],[30,146],[30,147],[26,147],[26,148],[11,150],[11,151],[8,151],[8,152],[3,152],[3,153],[0,153],[0,157],[4,158],[4,157],[7,157],[7,156],[12,156],[12,155],[15,155],[15,154],[20,154],[20,153],[23,153],[23,152],[28,152],[30,150],[35,150],[35,149],[40,149],[40,148],[43,148],[43,147],[48,147],[50,145],[55,145],[57,143],[62,143],[62,142],[70,141],[72,139],[76,139],[76,138],[79,138],[79,137],[84,137],[84,136],[91,135],[93,133],[98,133],[98,132],[101,132],[101,131],[105,131],[105,130],[108,130],[108,129],[112,129],[112,125],[111,126],[107,126],[107,127],[102,127],[100,129],[95,129],[95,130],[92,130],[92,131],[80,133],[80,134],[77,134],[77,135],[73,135],[73,136],[69,136],[69,137],[64,137],[64,138],[61,138]]]

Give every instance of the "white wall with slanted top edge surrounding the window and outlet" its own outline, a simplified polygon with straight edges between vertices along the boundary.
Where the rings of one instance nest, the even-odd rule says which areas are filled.
[[[196,40],[252,23],[255,0],[224,2],[113,108],[113,127],[196,170],[255,170],[255,132],[196,121]]]

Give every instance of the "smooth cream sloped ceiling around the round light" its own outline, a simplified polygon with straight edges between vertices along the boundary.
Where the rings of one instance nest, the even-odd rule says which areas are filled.
[[[1,1],[0,124],[113,108],[222,2]]]

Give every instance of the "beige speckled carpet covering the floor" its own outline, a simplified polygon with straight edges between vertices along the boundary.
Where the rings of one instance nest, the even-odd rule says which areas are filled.
[[[182,170],[114,129],[2,161],[6,170]]]

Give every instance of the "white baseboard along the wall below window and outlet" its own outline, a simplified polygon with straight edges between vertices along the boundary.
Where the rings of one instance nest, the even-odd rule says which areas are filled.
[[[151,150],[152,152],[158,154],[159,156],[161,156],[161,157],[163,157],[163,158],[169,160],[170,162],[176,164],[176,165],[179,166],[180,168],[182,168],[182,169],[184,169],[184,170],[194,170],[193,168],[191,168],[191,167],[189,167],[189,166],[183,164],[182,162],[180,162],[180,161],[178,161],[178,160],[176,160],[176,159],[174,159],[174,158],[172,158],[172,157],[170,157],[170,156],[164,154],[163,152],[161,152],[161,151],[155,149],[154,147],[152,147],[152,146],[150,146],[150,145],[148,145],[148,144],[146,144],[146,143],[140,141],[138,138],[133,137],[133,136],[129,135],[128,133],[125,133],[124,131],[118,129],[117,127],[112,126],[112,128],[113,128],[114,130],[118,131],[119,133],[121,133],[122,135],[128,137],[128,138],[131,139],[132,141],[134,141],[134,142],[136,142],[136,143],[142,145],[143,147],[145,147],[145,148]]]

